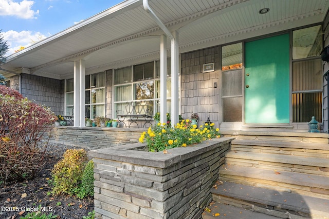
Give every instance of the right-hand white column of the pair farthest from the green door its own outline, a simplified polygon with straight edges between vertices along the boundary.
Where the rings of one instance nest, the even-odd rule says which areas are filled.
[[[86,126],[85,115],[86,115],[86,67],[85,67],[85,60],[80,59],[80,127]],[[78,118],[78,117],[77,117]]]

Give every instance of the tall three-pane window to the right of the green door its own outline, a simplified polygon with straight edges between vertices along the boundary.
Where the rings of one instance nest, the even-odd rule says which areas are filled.
[[[321,25],[293,31],[293,122],[322,122]]]

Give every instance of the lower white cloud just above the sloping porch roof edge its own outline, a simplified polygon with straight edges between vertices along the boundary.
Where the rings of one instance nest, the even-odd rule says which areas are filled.
[[[15,53],[15,50],[19,50],[21,46],[26,48],[34,43],[41,41],[44,38],[47,38],[47,36],[40,32],[32,32],[26,30],[21,32],[9,30],[7,32],[2,32],[2,36],[4,37],[4,40],[7,41],[9,46],[6,56]]]

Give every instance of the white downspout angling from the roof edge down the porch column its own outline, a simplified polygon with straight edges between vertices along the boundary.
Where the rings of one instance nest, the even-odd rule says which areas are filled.
[[[176,39],[173,36],[173,34],[168,30],[166,25],[163,24],[161,22],[161,20],[156,16],[156,14],[152,11],[152,9],[150,8],[148,0],[143,0],[143,7],[144,7],[144,10],[149,13],[149,15],[153,18],[153,20],[157,23],[157,25],[162,29],[162,31],[165,32],[165,34],[170,38],[170,41],[171,41],[171,58],[172,58],[172,62],[171,62],[171,65],[172,65],[172,72],[171,72],[171,74],[172,74],[172,78],[171,78],[171,82],[172,82],[172,85],[171,85],[172,86],[172,90],[171,90],[171,93],[172,93],[172,95],[171,95],[171,97],[172,97],[171,124],[176,125],[178,123],[178,110],[177,110],[177,106],[176,106],[175,103],[176,103],[176,98],[178,99],[178,92],[177,92],[177,96],[176,96],[175,95],[176,94],[175,89],[178,89],[178,82],[177,82],[178,81],[178,76],[177,76],[177,78],[175,78],[175,77],[176,77],[176,73],[178,74],[178,72],[176,72],[175,70],[173,71],[173,69],[176,68],[175,65],[177,64],[176,61],[175,61],[175,59],[176,59],[176,49],[175,49]],[[177,84],[177,86],[176,86],[176,84]],[[163,96],[163,94],[162,94],[162,96]],[[166,116],[165,113],[162,113],[160,115],[161,115],[161,118],[162,118],[162,116]]]

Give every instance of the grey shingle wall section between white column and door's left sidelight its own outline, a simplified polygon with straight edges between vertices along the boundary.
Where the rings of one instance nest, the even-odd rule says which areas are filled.
[[[210,120],[218,126],[220,113],[220,53],[218,47],[181,54],[181,115],[199,115],[199,125]],[[215,71],[203,73],[203,65],[214,63]],[[217,88],[214,88],[214,83]]]

